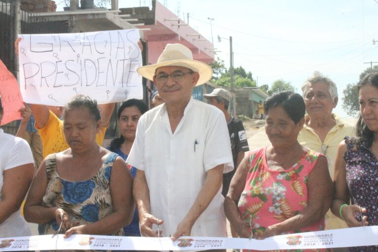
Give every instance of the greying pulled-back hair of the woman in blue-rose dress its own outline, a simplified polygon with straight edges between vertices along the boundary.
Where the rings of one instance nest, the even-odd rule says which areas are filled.
[[[63,109],[63,119],[69,110],[76,108],[87,108],[96,122],[101,120],[100,111],[97,107],[97,101],[85,95],[75,95],[70,101],[68,101]]]

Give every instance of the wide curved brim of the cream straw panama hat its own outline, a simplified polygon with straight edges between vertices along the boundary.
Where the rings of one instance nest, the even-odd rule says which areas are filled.
[[[195,86],[208,82],[213,77],[213,69],[210,65],[195,60],[175,60],[151,65],[141,66],[136,71],[146,79],[154,81],[156,69],[162,66],[182,66],[199,73],[199,79]]]

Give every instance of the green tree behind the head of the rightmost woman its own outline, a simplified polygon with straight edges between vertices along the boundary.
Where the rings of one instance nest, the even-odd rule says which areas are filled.
[[[366,75],[373,71],[378,71],[378,65],[366,68],[360,74],[360,81],[365,78]],[[348,116],[355,116],[360,110],[360,104],[358,104],[358,88],[357,83],[348,84],[347,88],[343,91],[343,109],[347,112]]]

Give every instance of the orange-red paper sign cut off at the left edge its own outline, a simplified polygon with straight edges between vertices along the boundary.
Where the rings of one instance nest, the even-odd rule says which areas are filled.
[[[4,108],[4,115],[1,125],[10,123],[14,120],[21,119],[20,108],[25,107],[17,79],[6,68],[0,60],[0,95],[1,103]]]

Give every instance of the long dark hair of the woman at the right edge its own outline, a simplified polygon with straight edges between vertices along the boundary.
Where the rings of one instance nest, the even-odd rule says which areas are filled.
[[[371,72],[365,78],[363,78],[358,84],[357,88],[358,91],[365,85],[372,85],[378,89],[378,71]],[[368,126],[366,126],[362,116],[358,118],[357,125],[356,125],[356,138],[353,142],[359,146],[362,142],[367,142],[368,146],[370,147],[373,144],[374,139],[374,132],[371,131]]]

